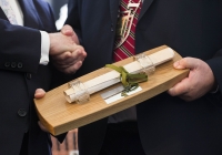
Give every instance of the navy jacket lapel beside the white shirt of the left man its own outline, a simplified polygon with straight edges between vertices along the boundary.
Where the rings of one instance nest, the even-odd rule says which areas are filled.
[[[19,0],[24,18],[24,27],[38,28],[39,21],[32,0]]]

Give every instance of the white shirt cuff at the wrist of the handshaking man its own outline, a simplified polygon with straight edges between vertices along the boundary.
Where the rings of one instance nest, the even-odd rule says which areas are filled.
[[[41,59],[40,64],[47,65],[49,63],[49,34],[46,31],[40,31],[41,33]]]

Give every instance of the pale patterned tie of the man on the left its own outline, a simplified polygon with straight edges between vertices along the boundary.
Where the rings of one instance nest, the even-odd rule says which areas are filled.
[[[10,23],[18,24],[16,14],[11,9],[11,6],[9,4],[8,0],[0,0],[0,7],[3,10],[4,14],[7,16],[7,18],[9,19]]]

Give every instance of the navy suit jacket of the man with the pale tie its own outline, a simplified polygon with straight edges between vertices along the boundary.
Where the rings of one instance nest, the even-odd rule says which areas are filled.
[[[56,31],[53,14],[41,0],[19,0],[24,27],[11,25],[0,9],[0,154],[19,155],[29,132],[29,154],[49,155],[50,136],[38,126],[36,89],[49,90],[49,65],[40,65],[41,34]]]

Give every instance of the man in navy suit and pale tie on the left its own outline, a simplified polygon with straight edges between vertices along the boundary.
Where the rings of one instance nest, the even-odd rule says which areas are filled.
[[[47,2],[0,0],[0,155],[51,154],[50,135],[38,125],[33,104],[38,87],[50,89],[49,56],[70,73],[85,53],[71,38],[56,33]]]

